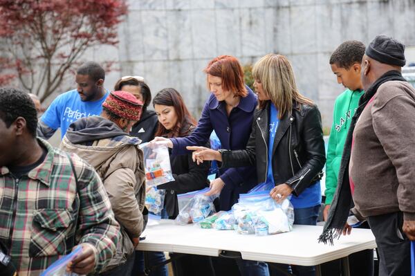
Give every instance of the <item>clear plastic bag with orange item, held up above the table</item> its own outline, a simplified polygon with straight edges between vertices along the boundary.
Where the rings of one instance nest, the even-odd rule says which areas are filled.
[[[147,186],[156,186],[174,181],[167,145],[155,142],[150,146],[149,142],[145,142],[140,144],[140,149],[144,154]]]

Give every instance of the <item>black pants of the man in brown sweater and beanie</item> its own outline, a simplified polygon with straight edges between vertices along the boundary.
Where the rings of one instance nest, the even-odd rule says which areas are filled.
[[[368,218],[379,252],[379,276],[411,276],[411,242],[402,231],[403,213]]]

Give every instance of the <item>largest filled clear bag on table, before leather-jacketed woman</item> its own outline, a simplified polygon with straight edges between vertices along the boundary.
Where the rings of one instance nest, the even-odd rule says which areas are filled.
[[[232,206],[239,234],[277,234],[293,229],[294,208],[286,199],[278,204],[268,192],[240,194]]]

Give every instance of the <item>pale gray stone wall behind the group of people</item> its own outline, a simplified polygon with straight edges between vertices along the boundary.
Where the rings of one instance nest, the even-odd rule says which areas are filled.
[[[386,34],[415,46],[415,0],[130,0],[117,47],[98,47],[86,59],[116,61],[108,89],[122,75],[142,75],[153,94],[174,87],[196,117],[208,90],[202,70],[217,55],[243,64],[267,53],[287,55],[299,89],[319,104],[331,125],[344,88],[329,66],[343,41],[367,44]]]

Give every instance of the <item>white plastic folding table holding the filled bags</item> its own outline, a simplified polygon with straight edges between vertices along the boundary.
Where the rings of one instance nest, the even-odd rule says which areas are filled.
[[[160,220],[158,225],[147,227],[142,234],[145,239],[136,249],[214,257],[231,251],[239,252],[241,258],[247,260],[316,266],[376,248],[371,230],[353,229],[350,235],[335,240],[334,246],[318,243],[321,233],[322,226],[295,225],[291,232],[258,237],[231,230],[201,229],[193,224],[178,226],[172,220]]]

